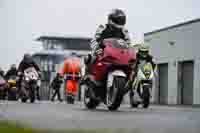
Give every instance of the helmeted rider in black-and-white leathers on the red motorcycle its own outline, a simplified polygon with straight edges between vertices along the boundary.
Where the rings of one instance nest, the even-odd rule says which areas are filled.
[[[121,9],[113,9],[108,15],[108,23],[100,25],[95,33],[94,39],[90,43],[92,49],[91,56],[88,56],[86,61],[86,73],[89,70],[90,64],[95,63],[96,56],[102,52],[101,43],[106,38],[120,38],[131,43],[128,30],[124,28],[126,24],[126,15]]]

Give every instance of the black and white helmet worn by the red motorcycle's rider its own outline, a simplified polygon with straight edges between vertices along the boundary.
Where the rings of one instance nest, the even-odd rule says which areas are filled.
[[[126,15],[121,9],[113,9],[108,15],[108,23],[116,28],[123,28],[126,24]]]

